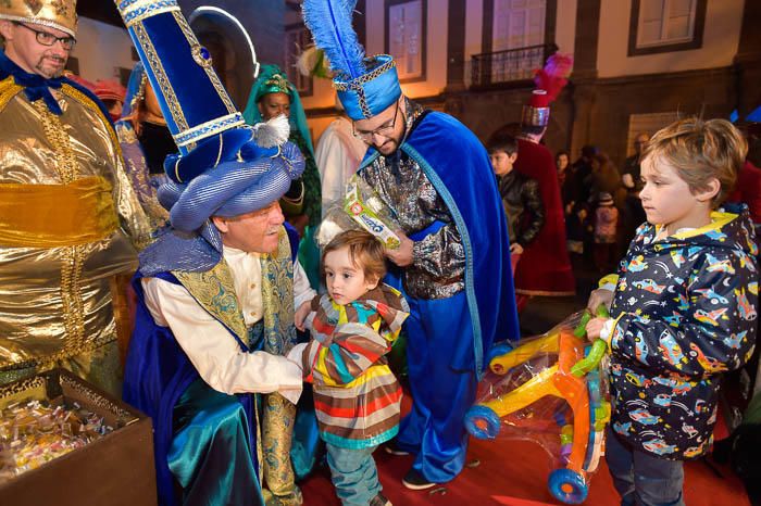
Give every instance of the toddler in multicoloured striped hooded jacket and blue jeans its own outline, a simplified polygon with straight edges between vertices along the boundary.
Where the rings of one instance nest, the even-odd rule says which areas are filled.
[[[336,493],[346,506],[390,506],[380,494],[373,451],[399,430],[401,387],[385,355],[410,308],[380,283],[384,246],[371,233],[347,230],[323,251],[327,293],[296,313],[312,333],[288,358],[314,384],[320,435]]]

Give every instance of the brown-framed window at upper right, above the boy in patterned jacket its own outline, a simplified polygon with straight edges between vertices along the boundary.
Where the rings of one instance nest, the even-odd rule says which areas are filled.
[[[707,0],[633,0],[629,56],[699,49]]]

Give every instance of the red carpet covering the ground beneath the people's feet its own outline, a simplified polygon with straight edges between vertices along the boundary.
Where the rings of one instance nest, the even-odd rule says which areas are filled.
[[[402,413],[409,409],[404,395]],[[452,482],[427,491],[411,491],[401,479],[412,465],[411,456],[375,452],[380,484],[395,506],[541,506],[561,504],[547,490],[551,471],[547,454],[536,443],[516,440],[481,441],[471,438],[466,467]],[[472,467],[471,467],[472,466]],[[721,477],[703,461],[685,466],[685,502],[689,506],[749,506],[740,480],[725,467],[716,466]],[[442,490],[441,490],[442,489]],[[301,483],[304,506],[339,506],[327,468],[319,469]],[[608,473],[604,458],[591,477],[589,506],[619,504],[619,495]]]

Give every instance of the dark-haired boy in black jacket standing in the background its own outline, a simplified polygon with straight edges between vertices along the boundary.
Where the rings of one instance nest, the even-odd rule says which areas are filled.
[[[489,140],[486,149],[497,175],[504,214],[508,216],[510,253],[521,255],[545,225],[545,205],[539,194],[539,182],[513,170],[513,164],[517,160],[517,141],[514,137],[497,136]]]

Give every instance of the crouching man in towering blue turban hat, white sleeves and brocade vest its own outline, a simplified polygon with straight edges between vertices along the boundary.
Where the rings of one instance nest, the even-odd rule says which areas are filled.
[[[117,5],[178,150],[158,191],[171,227],[133,281],[124,378],[153,420],[160,503],[300,505],[287,452],[301,370],[283,355],[314,292],[278,200],[303,157],[285,118],[245,125],[175,1]]]

